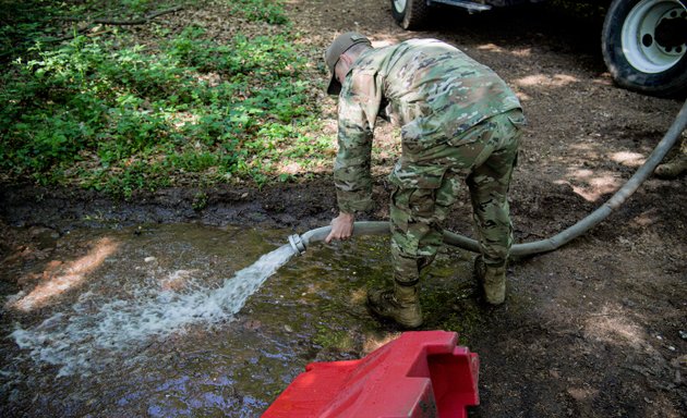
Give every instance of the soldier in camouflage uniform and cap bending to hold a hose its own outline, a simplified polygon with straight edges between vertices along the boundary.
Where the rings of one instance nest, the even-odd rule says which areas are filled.
[[[517,97],[491,69],[436,39],[375,49],[364,36],[347,33],[329,46],[325,61],[332,72],[327,93],[339,96],[339,214],[327,243],[350,237],[355,212],[372,206],[377,115],[401,126],[402,155],[389,175],[394,287],[371,291],[371,310],[405,328],[422,324],[420,271],[442,245],[441,224],[463,180],[481,249],[475,276],[485,300],[503,304],[513,243],[506,195],[525,124]]]

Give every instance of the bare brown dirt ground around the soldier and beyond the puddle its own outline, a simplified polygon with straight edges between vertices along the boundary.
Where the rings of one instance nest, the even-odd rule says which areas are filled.
[[[511,189],[519,243],[546,238],[601,206],[641,165],[682,106],[613,85],[601,58],[599,17],[551,7],[480,15],[444,10],[432,30],[408,33],[394,23],[387,0],[287,4],[304,38],[322,48],[347,30],[376,45],[435,37],[509,83],[529,120]],[[335,102],[322,99],[335,126]],[[379,140],[393,140],[393,130],[379,131]],[[388,212],[388,190],[378,179],[371,220]],[[96,193],[7,186],[0,192],[1,255],[7,263],[35,245],[37,226],[59,233],[108,222],[197,221],[304,232],[335,214],[327,176],[263,190],[218,188],[200,211],[195,192],[170,189],[123,204]],[[508,297],[519,308],[485,308],[486,327],[470,339],[481,360],[481,405],[471,416],[685,416],[686,192],[685,176],[652,177],[584,236],[514,260]],[[471,234],[467,200],[446,226]]]

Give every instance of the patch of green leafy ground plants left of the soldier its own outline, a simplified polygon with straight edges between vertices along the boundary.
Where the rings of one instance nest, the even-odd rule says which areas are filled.
[[[56,21],[87,20],[99,5],[52,3],[24,2],[25,13],[0,34],[10,40],[1,44],[0,75],[5,182],[129,197],[189,184],[260,187],[330,163],[332,138],[313,134],[322,86],[280,2],[186,2],[186,10],[213,8],[257,25],[222,41],[183,17],[149,23],[144,36],[133,26],[95,27],[48,41],[67,30]],[[0,4],[9,15],[9,3]],[[144,0],[103,4],[120,20],[161,8]]]

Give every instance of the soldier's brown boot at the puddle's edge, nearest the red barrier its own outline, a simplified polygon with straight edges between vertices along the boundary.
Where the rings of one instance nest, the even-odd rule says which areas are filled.
[[[367,306],[378,317],[391,319],[403,328],[418,328],[422,324],[418,287],[418,284],[395,283],[394,288],[372,290],[367,293]]]

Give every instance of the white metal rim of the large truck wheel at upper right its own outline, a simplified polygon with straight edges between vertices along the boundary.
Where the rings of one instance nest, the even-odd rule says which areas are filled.
[[[630,65],[655,74],[679,62],[687,45],[665,46],[655,37],[659,24],[673,19],[687,19],[687,11],[677,0],[642,0],[630,10],[620,35],[623,52]]]

